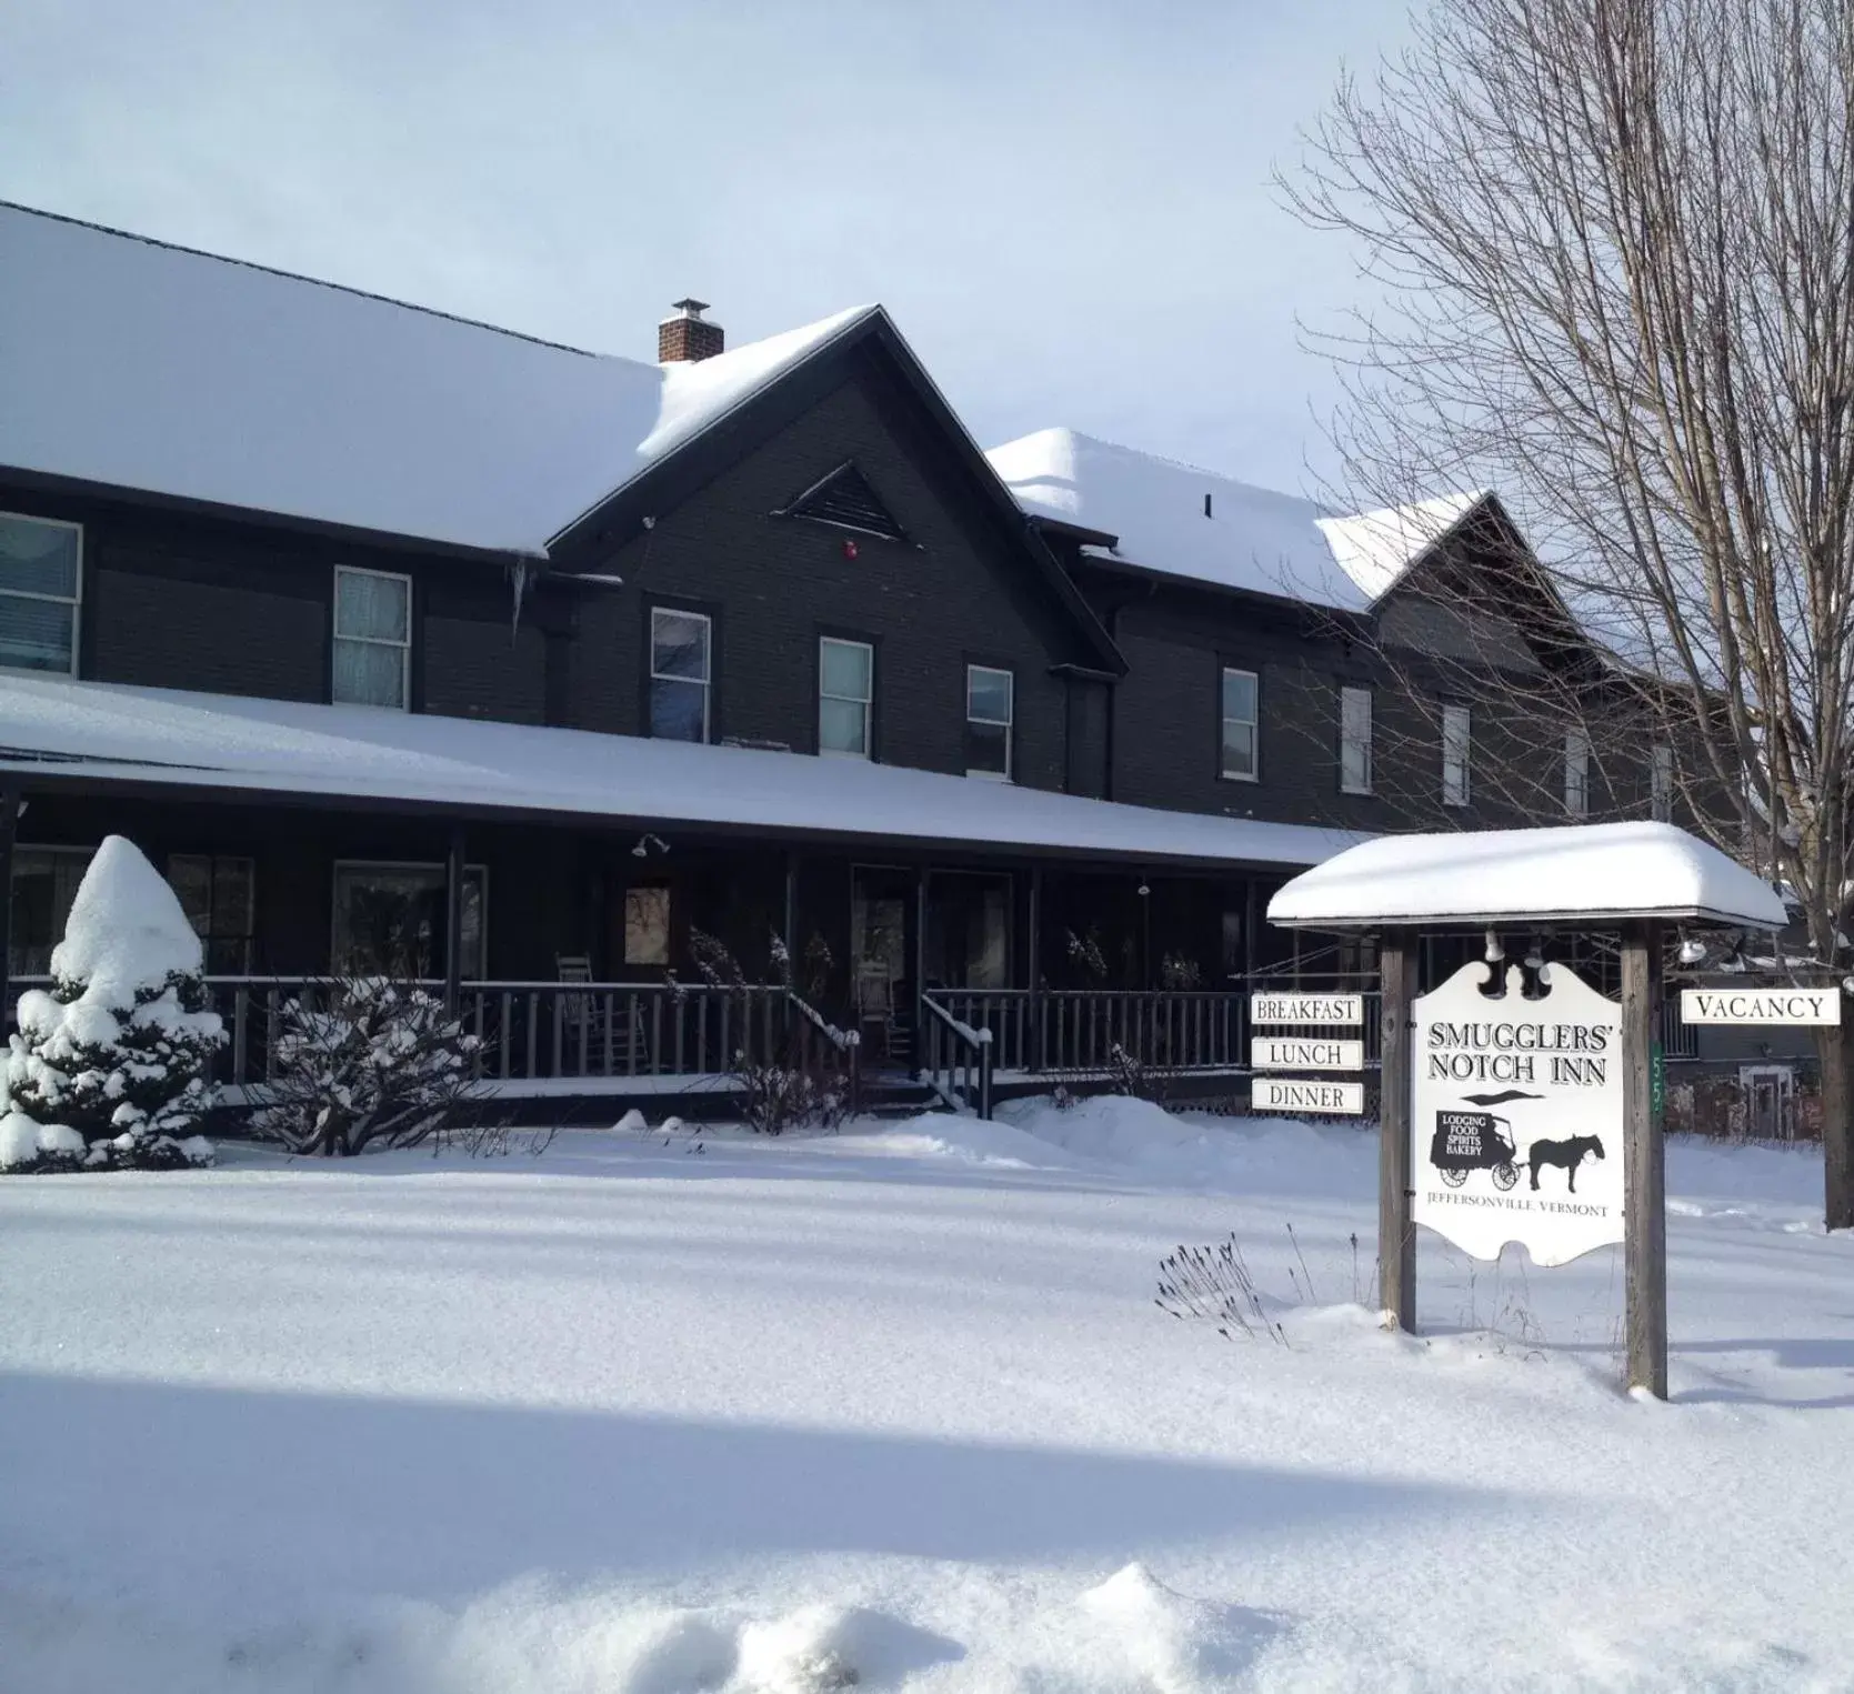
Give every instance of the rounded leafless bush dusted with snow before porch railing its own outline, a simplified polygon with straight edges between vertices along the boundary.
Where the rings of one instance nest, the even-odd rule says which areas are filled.
[[[480,1042],[410,982],[337,977],[287,1001],[254,1131],[291,1153],[343,1158],[465,1127]]]

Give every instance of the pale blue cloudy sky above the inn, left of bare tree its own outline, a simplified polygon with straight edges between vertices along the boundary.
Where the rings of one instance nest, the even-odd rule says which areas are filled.
[[[986,445],[1283,489],[1357,291],[1268,172],[1403,0],[0,7],[0,196],[654,358],[883,300]]]

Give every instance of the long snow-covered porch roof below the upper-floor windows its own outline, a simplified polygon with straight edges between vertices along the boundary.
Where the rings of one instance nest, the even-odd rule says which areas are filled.
[[[35,676],[0,678],[0,773],[26,790],[323,795],[1151,864],[1311,866],[1365,840],[847,758]]]

